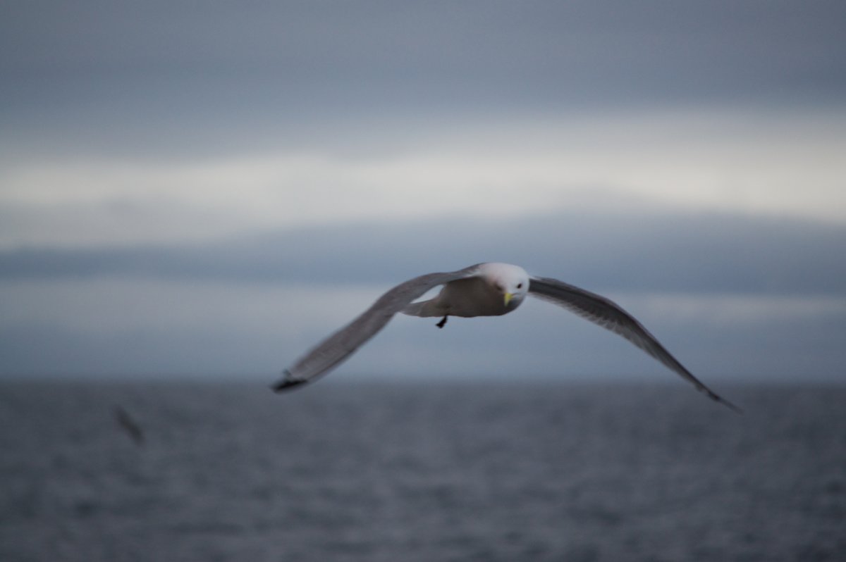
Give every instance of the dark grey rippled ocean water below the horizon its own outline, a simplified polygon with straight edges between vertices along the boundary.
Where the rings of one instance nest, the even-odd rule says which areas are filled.
[[[846,387],[720,390],[0,383],[0,560],[846,559]]]

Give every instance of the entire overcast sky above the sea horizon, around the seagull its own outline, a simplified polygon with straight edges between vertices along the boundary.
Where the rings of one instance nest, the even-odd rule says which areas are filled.
[[[706,382],[846,382],[846,4],[0,6],[0,377],[268,384],[481,261]],[[540,301],[332,378],[665,381]]]

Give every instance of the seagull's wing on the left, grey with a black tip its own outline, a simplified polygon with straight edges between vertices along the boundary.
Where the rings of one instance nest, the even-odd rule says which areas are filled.
[[[463,270],[448,273],[429,273],[393,287],[358,318],[327,337],[305,356],[300,357],[297,363],[285,369],[283,379],[273,385],[273,390],[277,392],[288,390],[304,385],[322,374],[327,374],[365,341],[376,336],[376,332],[382,330],[394,314],[400,312],[415,298],[438,285],[475,276],[478,270],[478,265],[471,265]]]

